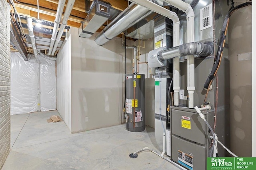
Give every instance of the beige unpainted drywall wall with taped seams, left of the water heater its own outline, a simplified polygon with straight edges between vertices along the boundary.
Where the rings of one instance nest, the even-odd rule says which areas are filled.
[[[124,102],[122,39],[99,46],[95,35],[86,39],[78,37],[78,28],[70,31],[72,133],[120,124]],[[131,73],[132,53],[127,54],[127,73]]]

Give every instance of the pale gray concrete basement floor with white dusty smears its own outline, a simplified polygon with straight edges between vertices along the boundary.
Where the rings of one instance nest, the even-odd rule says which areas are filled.
[[[158,150],[154,129],[140,133],[117,125],[71,134],[62,122],[47,123],[58,111],[11,115],[11,151],[2,170],[179,170],[144,147]]]

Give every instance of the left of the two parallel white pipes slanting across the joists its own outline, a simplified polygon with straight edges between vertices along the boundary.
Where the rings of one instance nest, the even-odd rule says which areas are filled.
[[[48,55],[51,55],[66,0],[59,0]]]

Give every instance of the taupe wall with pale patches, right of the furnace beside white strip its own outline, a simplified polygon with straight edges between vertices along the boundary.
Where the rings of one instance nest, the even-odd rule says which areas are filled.
[[[236,0],[236,5],[244,1]],[[229,20],[230,61],[230,149],[240,157],[250,157],[252,149],[252,60],[240,61],[252,52],[251,6],[234,12]],[[246,18],[247,20],[245,20]],[[238,56],[239,55],[239,56]],[[245,76],[246,75],[246,76]],[[244,145],[237,147],[243,143]]]

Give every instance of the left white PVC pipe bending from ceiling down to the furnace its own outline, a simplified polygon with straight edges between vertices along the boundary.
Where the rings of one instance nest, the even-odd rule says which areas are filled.
[[[175,12],[167,10],[148,0],[129,0],[140,6],[144,6],[162,16],[170,18],[173,21],[173,45],[180,45],[180,20]],[[179,106],[179,90],[180,90],[180,58],[174,59],[173,67],[173,90],[174,90],[174,106]]]

